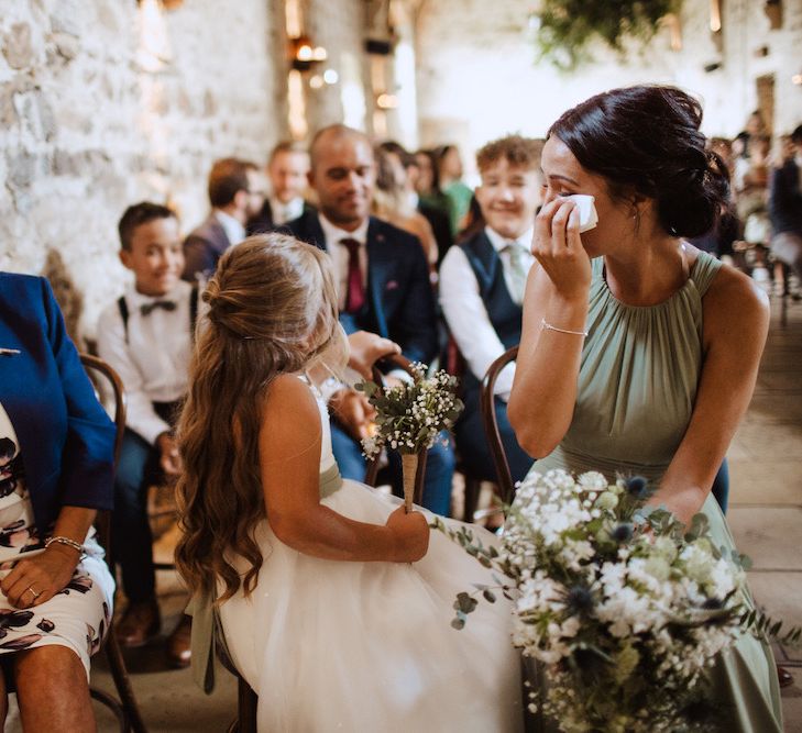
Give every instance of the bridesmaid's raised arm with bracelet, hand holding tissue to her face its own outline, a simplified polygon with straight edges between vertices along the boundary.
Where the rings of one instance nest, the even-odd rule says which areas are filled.
[[[537,216],[524,299],[524,324],[507,404],[520,446],[532,457],[549,455],[563,438],[576,403],[584,337],[546,331],[542,321],[582,332],[587,319],[591,263],[582,247],[573,202],[554,200]]]

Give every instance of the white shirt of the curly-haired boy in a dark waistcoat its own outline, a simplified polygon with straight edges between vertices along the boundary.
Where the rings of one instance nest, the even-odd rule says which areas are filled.
[[[490,226],[486,226],[484,232],[501,257],[504,281],[507,290],[512,292],[510,254],[508,251],[505,252],[509,241]],[[530,253],[531,237],[530,229],[515,240],[526,249],[527,271],[535,264],[535,257]],[[476,276],[462,247],[449,247],[443,257],[440,266],[440,306],[451,335],[468,363],[468,368],[476,379],[481,380],[487,367],[504,354],[506,348],[491,323]],[[496,380],[495,393],[505,402],[509,399],[514,377],[515,364],[509,364]]]

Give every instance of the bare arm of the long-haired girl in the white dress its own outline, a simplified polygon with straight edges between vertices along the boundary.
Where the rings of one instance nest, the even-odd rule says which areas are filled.
[[[267,521],[278,540],[305,555],[340,560],[411,563],[427,551],[420,512],[399,508],[387,524],[356,522],[320,503],[320,411],[297,377],[270,387],[260,432]]]

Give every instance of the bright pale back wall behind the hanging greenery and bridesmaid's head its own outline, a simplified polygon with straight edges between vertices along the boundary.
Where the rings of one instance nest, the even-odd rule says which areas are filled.
[[[593,65],[562,75],[551,65],[535,64],[527,30],[531,0],[425,1],[416,24],[420,142],[457,142],[468,154],[512,131],[542,136],[569,107],[637,82],[674,84],[697,93],[705,104],[705,132],[733,136],[757,105],[757,77],[771,74],[774,130],[790,132],[802,122],[802,86],[791,81],[802,73],[802,2],[783,2],[784,23],[778,31],[769,29],[762,5],[757,0],[723,2],[719,49],[710,32],[710,3],[686,0],[682,51],[671,51],[663,30],[647,48],[630,46],[626,62],[595,47]],[[714,63],[721,67],[705,71]]]

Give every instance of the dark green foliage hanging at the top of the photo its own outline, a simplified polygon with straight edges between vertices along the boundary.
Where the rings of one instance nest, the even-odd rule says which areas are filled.
[[[587,46],[597,38],[620,53],[626,38],[651,40],[660,21],[681,7],[682,0],[540,0],[539,59],[575,68],[591,59]]]

